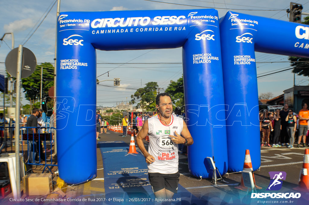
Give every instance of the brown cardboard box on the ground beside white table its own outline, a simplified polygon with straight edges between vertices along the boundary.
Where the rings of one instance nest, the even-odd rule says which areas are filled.
[[[28,196],[48,195],[53,191],[52,174],[28,174],[23,177],[24,193]]]

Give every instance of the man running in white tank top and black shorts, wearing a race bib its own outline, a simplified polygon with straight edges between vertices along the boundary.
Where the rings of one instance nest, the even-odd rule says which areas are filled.
[[[158,94],[155,102],[159,114],[145,121],[136,136],[136,142],[148,163],[149,182],[155,197],[171,199],[177,193],[180,176],[178,144],[189,146],[193,144],[193,138],[183,119],[172,116],[173,106],[169,94]],[[147,135],[148,152],[143,143]]]

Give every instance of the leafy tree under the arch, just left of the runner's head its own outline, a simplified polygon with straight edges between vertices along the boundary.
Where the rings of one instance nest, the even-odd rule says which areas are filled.
[[[137,89],[134,95],[131,95],[131,103],[140,100],[137,107],[152,111],[155,109],[155,97],[159,86],[157,82],[148,82],[145,85],[145,87]]]

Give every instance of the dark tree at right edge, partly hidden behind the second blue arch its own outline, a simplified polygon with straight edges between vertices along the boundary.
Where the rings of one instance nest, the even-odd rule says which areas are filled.
[[[309,25],[309,16],[305,17],[302,23]],[[309,76],[309,62],[302,62],[309,61],[309,58],[290,56],[288,59],[291,61],[290,65],[294,67],[292,70],[293,73],[298,73],[297,75],[303,75],[307,77]]]

